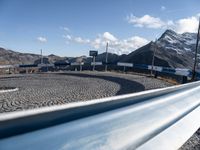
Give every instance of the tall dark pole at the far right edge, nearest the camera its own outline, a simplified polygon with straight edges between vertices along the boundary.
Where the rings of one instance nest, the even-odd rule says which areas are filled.
[[[200,36],[199,34],[200,34],[200,18],[199,18],[199,27],[198,27],[198,33],[197,33],[197,42],[196,42],[196,49],[195,49],[194,66],[193,66],[193,72],[192,72],[192,81],[195,80],[195,76],[196,76],[197,53],[198,53],[199,36]]]

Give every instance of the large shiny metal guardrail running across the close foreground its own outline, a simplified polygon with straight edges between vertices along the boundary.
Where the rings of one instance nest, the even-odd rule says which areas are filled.
[[[0,149],[178,149],[200,127],[200,82],[0,114]]]

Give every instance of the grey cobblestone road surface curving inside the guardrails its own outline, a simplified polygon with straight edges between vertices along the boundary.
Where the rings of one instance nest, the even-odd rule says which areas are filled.
[[[0,113],[91,100],[170,86],[138,75],[67,72],[0,77],[0,87],[17,87],[0,93]]]

